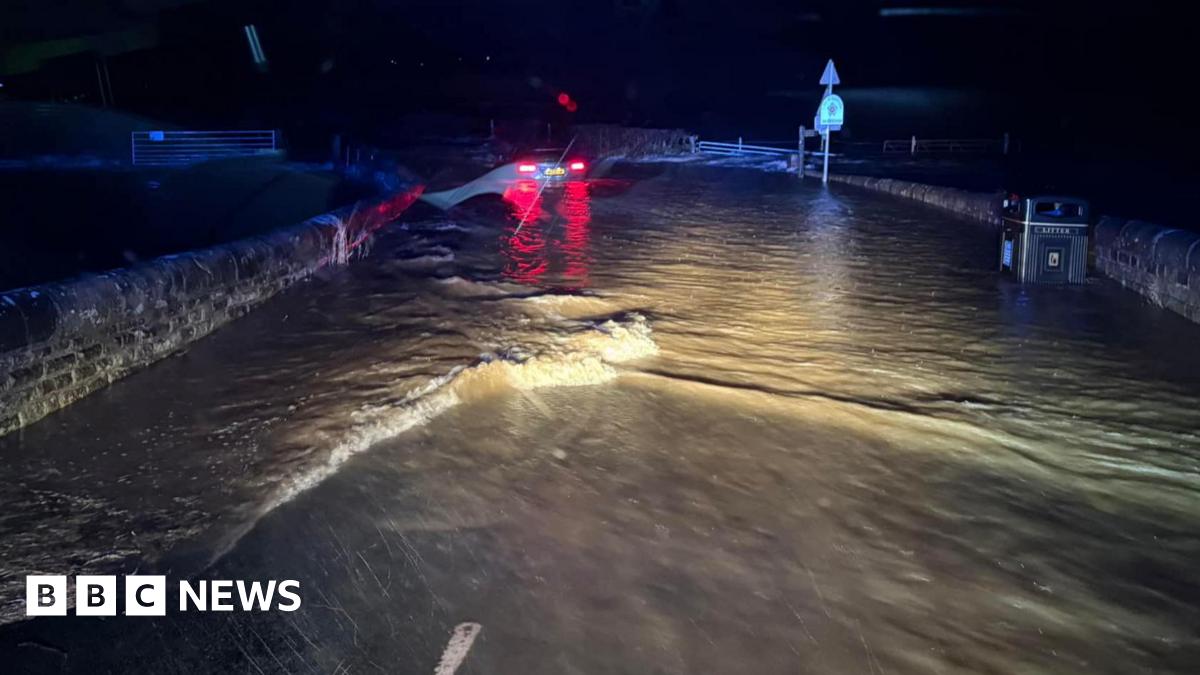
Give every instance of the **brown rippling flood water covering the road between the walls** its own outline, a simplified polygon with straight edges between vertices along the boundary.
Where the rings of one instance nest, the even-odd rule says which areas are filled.
[[[32,573],[295,613],[0,627],[18,671],[1194,673],[1200,327],[978,225],[685,165],[395,223],[0,438]],[[170,597],[170,596],[169,596]]]

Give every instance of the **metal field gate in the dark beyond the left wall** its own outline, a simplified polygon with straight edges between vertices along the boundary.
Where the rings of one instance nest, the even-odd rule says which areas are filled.
[[[130,160],[138,166],[182,166],[277,151],[270,131],[134,131]]]

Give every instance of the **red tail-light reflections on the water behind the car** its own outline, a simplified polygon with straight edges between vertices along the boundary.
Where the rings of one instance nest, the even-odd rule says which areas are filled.
[[[518,180],[504,191],[509,204],[509,227],[500,243],[504,276],[520,283],[539,283],[553,273],[570,287],[587,286],[590,186],[572,180],[551,192],[539,193],[539,187],[535,180]],[[557,198],[551,211],[544,207],[547,197]]]

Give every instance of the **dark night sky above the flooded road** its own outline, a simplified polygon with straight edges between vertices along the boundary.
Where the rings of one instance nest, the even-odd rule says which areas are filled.
[[[847,138],[1013,131],[1075,149],[1165,149],[1166,136],[1190,142],[1183,101],[1194,29],[1180,6],[10,0],[0,36],[16,44],[152,24],[157,48],[109,58],[114,91],[126,107],[174,118],[554,117],[553,96],[565,90],[582,120],[775,136],[811,120],[821,67],[835,58]],[[251,67],[247,23],[270,59],[266,74]],[[10,79],[31,96],[53,96],[61,86],[47,83],[54,71]]]

